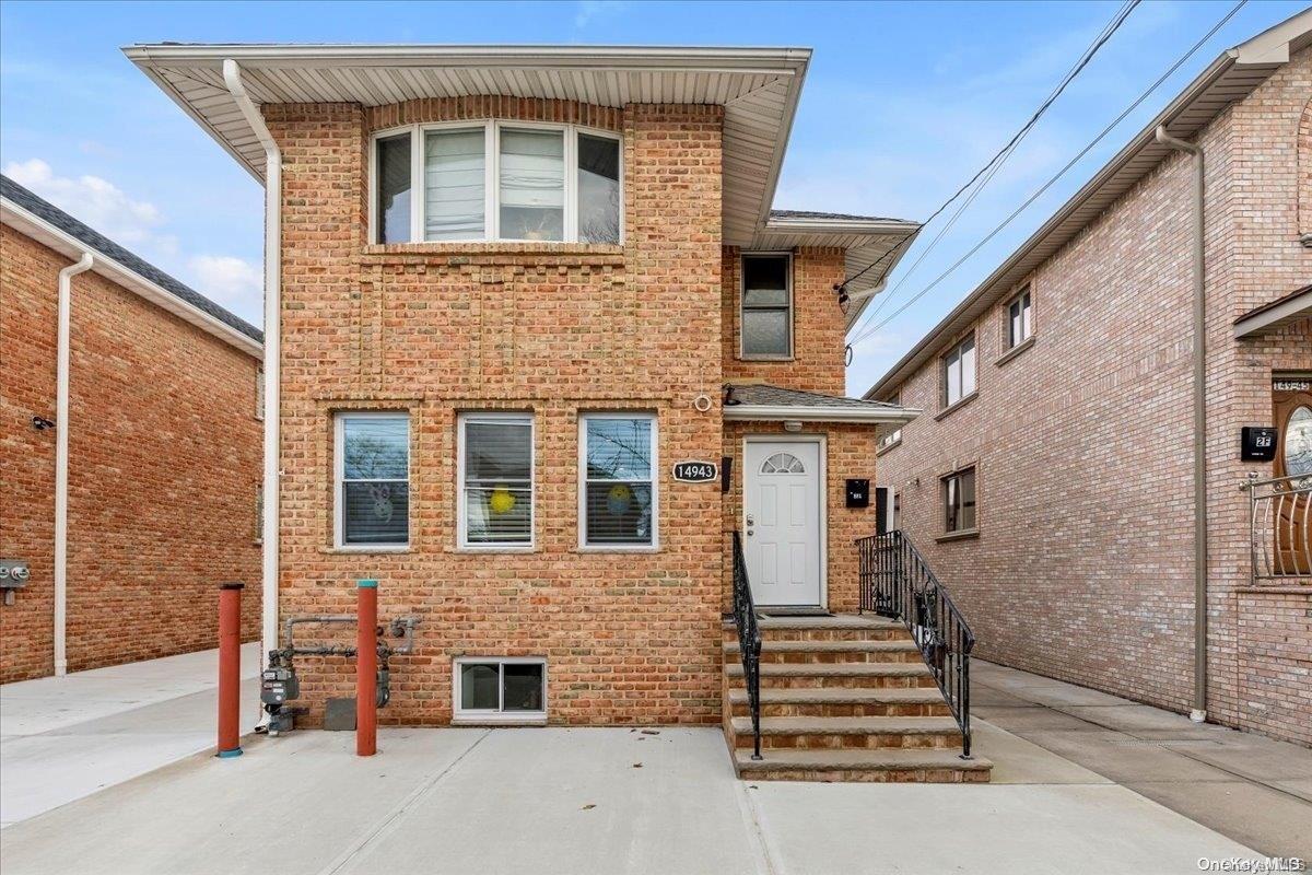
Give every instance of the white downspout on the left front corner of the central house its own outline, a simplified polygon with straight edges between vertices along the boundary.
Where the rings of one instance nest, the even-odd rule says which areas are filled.
[[[269,651],[278,648],[278,426],[282,405],[279,403],[279,370],[282,365],[281,340],[281,268],[282,268],[282,152],[273,134],[264,123],[260,108],[255,105],[245,85],[241,83],[241,68],[237,62],[223,62],[223,81],[236,101],[237,109],[255,131],[264,147],[264,519],[262,519],[262,586],[261,623],[262,638],[260,665],[268,668]],[[261,712],[262,714],[262,712]],[[262,714],[261,723],[268,722]]]

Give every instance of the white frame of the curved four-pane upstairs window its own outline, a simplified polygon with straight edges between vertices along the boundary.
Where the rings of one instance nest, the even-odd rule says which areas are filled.
[[[424,134],[426,131],[476,130],[484,131],[483,152],[483,236],[462,240],[424,239]],[[501,130],[552,130],[564,131],[564,239],[563,240],[521,240],[501,239],[501,210],[499,206],[499,184],[501,178]],[[457,122],[432,122],[424,125],[400,125],[378,130],[369,136],[369,241],[383,245],[378,240],[378,140],[409,131],[411,135],[411,232],[407,244],[421,243],[541,243],[544,245],[579,243],[579,135],[586,134],[600,139],[614,140],[619,147],[619,244],[625,241],[625,140],[615,131],[586,125],[559,125],[551,122],[520,122],[509,118],[489,118]],[[401,244],[401,245],[407,245]],[[390,244],[396,245],[396,244]],[[597,244],[615,245],[615,244]],[[790,274],[791,285],[791,274]],[[790,303],[791,307],[791,303]],[[791,341],[791,338],[790,338]]]

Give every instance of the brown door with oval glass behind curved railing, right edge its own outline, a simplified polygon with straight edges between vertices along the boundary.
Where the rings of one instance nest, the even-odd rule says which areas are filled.
[[[1312,576],[1312,374],[1278,375],[1271,380],[1271,417],[1279,429],[1275,476],[1292,478],[1277,502],[1277,575]]]

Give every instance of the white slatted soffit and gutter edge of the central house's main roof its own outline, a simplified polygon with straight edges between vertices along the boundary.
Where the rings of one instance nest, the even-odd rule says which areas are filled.
[[[264,150],[223,84],[241,66],[260,104],[500,94],[600,106],[724,106],[724,243],[765,226],[810,49],[424,45],[139,45],[127,58],[256,178]]]

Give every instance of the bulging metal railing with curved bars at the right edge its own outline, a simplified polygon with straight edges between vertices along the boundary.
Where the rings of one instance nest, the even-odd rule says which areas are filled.
[[[1252,480],[1245,488],[1253,582],[1312,579],[1312,476]]]

